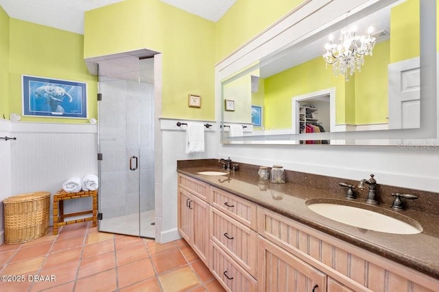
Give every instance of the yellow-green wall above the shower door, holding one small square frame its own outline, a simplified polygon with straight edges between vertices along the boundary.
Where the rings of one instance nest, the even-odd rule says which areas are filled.
[[[163,117],[215,118],[215,23],[158,0],[126,0],[86,12],[85,57],[137,49],[163,53]],[[201,108],[188,106],[189,94],[202,96]]]

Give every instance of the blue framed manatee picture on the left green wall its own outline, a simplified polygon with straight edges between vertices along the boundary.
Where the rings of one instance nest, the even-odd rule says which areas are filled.
[[[87,118],[87,84],[22,76],[23,116]]]

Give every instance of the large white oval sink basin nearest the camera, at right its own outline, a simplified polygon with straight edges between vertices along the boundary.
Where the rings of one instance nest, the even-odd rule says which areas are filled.
[[[323,217],[367,230],[401,235],[423,232],[423,228],[414,220],[412,221],[415,224],[409,224],[387,215],[357,207],[327,202],[312,203],[309,201],[307,207]]]

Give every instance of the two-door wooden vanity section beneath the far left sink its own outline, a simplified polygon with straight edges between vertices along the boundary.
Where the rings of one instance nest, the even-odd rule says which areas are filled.
[[[178,231],[208,265],[209,185],[182,174],[178,175],[178,181]]]

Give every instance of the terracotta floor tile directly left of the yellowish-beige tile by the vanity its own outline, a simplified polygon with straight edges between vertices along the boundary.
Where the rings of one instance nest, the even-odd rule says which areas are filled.
[[[117,268],[119,288],[155,276],[150,258],[128,263]]]

